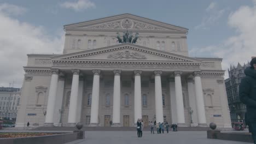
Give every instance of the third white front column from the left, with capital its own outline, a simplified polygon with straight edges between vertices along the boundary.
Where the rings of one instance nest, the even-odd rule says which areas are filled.
[[[94,69],[94,83],[92,85],[92,98],[91,98],[91,121],[90,126],[98,125],[98,100],[100,94],[100,73],[101,70]]]

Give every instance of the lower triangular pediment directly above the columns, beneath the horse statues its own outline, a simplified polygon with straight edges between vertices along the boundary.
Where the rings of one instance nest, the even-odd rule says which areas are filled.
[[[125,43],[99,49],[68,53],[53,57],[53,60],[74,61],[136,61],[136,62],[195,62],[198,59],[177,55],[171,52]]]

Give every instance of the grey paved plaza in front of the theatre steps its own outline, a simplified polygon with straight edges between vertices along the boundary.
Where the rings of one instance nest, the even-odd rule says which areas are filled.
[[[165,131],[166,132],[166,131]],[[85,131],[85,140],[77,140],[69,142],[67,144],[74,143],[132,143],[132,144],[160,144],[160,143],[172,143],[172,144],[246,144],[248,142],[239,141],[225,141],[225,140],[213,140],[207,139],[206,131],[177,131],[164,134],[150,134],[150,131],[143,131],[142,137],[137,137],[137,131]]]

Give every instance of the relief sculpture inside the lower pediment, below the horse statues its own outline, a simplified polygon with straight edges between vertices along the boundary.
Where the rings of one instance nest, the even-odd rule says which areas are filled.
[[[124,51],[124,52],[117,52],[112,53],[108,55],[108,58],[114,58],[114,59],[122,59],[122,58],[133,58],[133,59],[147,59],[146,56],[141,55],[137,52],[130,52],[130,51]]]

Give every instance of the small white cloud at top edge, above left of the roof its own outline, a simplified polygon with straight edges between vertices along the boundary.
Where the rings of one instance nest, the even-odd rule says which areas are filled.
[[[78,0],[75,2],[64,2],[61,4],[62,8],[74,9],[75,11],[80,11],[89,8],[96,8],[95,3],[89,0]]]

